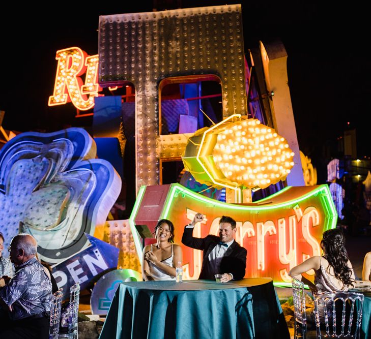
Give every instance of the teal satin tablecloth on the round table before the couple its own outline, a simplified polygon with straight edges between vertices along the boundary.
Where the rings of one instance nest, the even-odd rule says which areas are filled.
[[[290,338],[272,280],[120,284],[100,339]]]

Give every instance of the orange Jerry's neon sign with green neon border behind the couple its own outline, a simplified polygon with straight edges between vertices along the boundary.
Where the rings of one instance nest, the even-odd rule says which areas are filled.
[[[139,257],[141,246],[134,220],[140,209],[152,207],[142,203],[145,195],[146,187],[142,187],[130,217]],[[171,184],[160,218],[173,221],[176,243],[181,244],[184,225],[196,212],[204,213],[206,217],[203,224],[194,228],[196,237],[217,235],[221,215],[234,218],[237,221],[235,239],[247,249],[246,276],[270,276],[275,282],[291,282],[288,272],[292,267],[313,255],[320,255],[322,233],[334,228],[337,221],[327,185],[287,187],[258,202],[238,205],[207,198],[180,184]],[[184,245],[182,249],[184,279],[197,279],[202,253]]]

